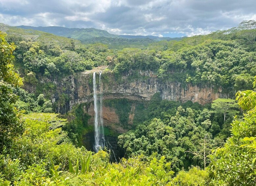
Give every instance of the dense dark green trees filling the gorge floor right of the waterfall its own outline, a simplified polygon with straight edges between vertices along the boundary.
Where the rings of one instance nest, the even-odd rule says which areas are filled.
[[[223,124],[218,113],[198,103],[189,101],[181,106],[162,100],[157,93],[148,105],[135,110],[134,128],[120,135],[118,144],[126,150],[126,157],[164,155],[175,172],[191,165],[204,168],[209,164],[211,149],[224,144],[230,135],[230,120],[232,117]]]

